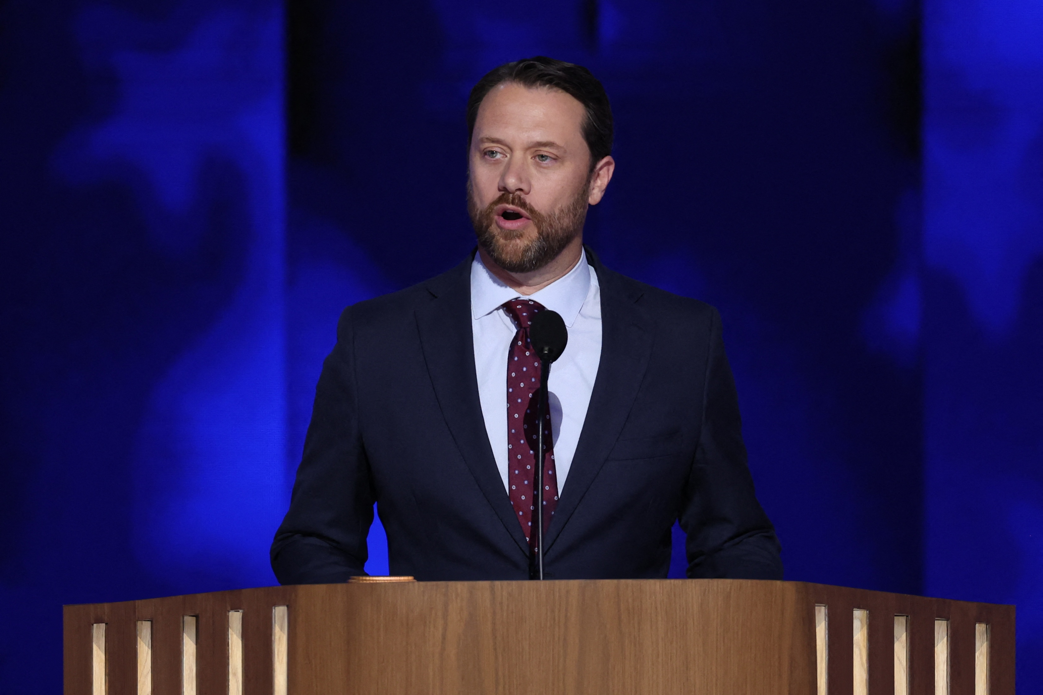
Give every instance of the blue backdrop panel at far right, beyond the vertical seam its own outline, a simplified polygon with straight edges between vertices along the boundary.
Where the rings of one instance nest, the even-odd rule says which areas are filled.
[[[1043,692],[1043,4],[924,6],[924,584],[1018,606]]]

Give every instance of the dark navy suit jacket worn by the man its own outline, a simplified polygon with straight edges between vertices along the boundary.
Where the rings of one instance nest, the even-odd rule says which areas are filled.
[[[601,284],[601,363],[544,576],[665,577],[680,519],[688,576],[782,578],[717,309],[587,257]],[[374,501],[391,574],[529,577],[479,402],[470,263],[341,316],[271,547],[281,582],[363,574]]]

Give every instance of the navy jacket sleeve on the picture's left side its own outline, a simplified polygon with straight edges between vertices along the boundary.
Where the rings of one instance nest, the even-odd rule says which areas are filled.
[[[332,584],[365,574],[374,492],[359,431],[351,307],[322,365],[290,510],[271,545],[280,584]]]

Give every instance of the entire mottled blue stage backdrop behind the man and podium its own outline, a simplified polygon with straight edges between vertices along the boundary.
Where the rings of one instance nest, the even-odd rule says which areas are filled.
[[[467,92],[538,53],[612,99],[590,244],[722,312],[786,577],[1016,602],[1043,692],[1041,36],[1037,0],[0,2],[0,692],[60,691],[63,603],[274,582],[337,316],[470,250]]]

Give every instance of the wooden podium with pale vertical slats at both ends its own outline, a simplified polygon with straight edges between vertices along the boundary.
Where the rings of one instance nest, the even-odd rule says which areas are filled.
[[[1014,606],[797,581],[346,584],[65,607],[66,695],[1013,695]]]

